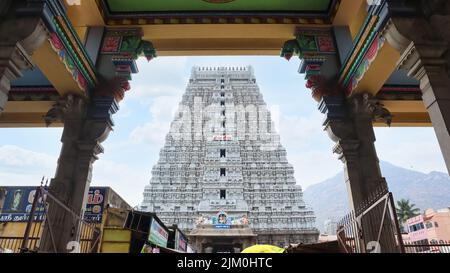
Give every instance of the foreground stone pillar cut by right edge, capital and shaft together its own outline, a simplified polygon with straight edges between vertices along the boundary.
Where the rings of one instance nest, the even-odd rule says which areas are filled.
[[[423,102],[450,173],[450,2],[391,2],[385,36],[402,54],[398,68],[420,82]]]

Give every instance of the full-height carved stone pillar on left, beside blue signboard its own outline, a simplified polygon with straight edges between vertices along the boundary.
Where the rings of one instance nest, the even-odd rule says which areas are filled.
[[[112,130],[111,116],[117,110],[113,96],[94,97],[88,103],[69,95],[47,113],[47,121],[64,120],[63,145],[49,192],[70,211],[47,199],[49,221],[42,235],[41,251],[68,252],[68,242],[79,239],[79,220],[86,205],[92,166],[97,155],[103,152],[101,143]]]

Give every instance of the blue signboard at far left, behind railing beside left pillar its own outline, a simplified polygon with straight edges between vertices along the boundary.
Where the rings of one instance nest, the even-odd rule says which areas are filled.
[[[36,187],[5,187],[3,208],[0,222],[27,222],[30,217]],[[44,204],[39,200],[34,214],[34,221],[44,220]]]

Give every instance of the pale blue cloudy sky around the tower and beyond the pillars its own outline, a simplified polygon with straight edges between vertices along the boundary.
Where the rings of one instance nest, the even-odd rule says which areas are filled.
[[[159,57],[140,59],[140,73],[114,116],[115,128],[94,165],[93,185],[113,187],[130,204],[142,200],[150,171],[187,85],[191,67],[252,65],[260,91],[276,118],[281,143],[304,189],[335,175],[342,164],[323,132],[323,116],[297,73],[300,61],[279,57]],[[278,113],[278,115],[277,115]],[[37,185],[52,177],[62,129],[1,129],[0,184]],[[416,171],[446,172],[432,128],[377,128],[379,158]]]

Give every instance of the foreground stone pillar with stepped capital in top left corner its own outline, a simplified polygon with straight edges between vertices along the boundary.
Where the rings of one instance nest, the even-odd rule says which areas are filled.
[[[40,19],[42,6],[20,0],[0,3],[0,114],[8,101],[11,81],[33,67],[31,55],[47,39]]]

